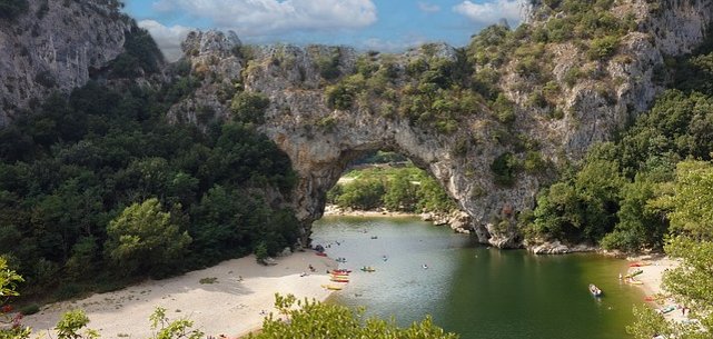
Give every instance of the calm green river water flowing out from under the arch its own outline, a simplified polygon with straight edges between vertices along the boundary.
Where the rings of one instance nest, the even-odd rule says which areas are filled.
[[[354,270],[329,302],[402,326],[430,315],[463,339],[620,339],[628,338],[633,306],[643,305],[643,292],[617,279],[624,260],[497,250],[417,218],[325,217],[313,231],[313,243],[333,243],[329,257]]]

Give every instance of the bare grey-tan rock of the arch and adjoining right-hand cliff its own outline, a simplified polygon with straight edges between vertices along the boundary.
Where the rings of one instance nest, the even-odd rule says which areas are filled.
[[[563,89],[556,109],[566,112],[564,119],[546,119],[528,109],[522,77],[515,74],[512,66],[504,67],[499,87],[517,104],[514,132],[535,140],[546,160],[577,159],[594,142],[607,140],[623,128],[632,114],[646,110],[661,90],[652,78],[663,57],[691,51],[701,43],[712,21],[713,4],[707,0],[671,0],[662,4],[643,0],[620,2],[614,11],[634,12],[640,29],[623,38],[620,58],[585,64],[602,73],[600,79],[580,80]],[[538,24],[537,20],[532,24]],[[204,81],[197,92],[200,94],[179,103],[171,114],[176,119],[195,120],[190,118],[195,114],[191,108],[210,107],[214,118],[227,119],[228,102],[215,100],[216,89],[227,84],[267,96],[270,106],[266,122],[259,129],[290,157],[299,176],[291,207],[303,221],[305,238],[309,236],[311,222],[324,212],[327,190],[347,164],[368,151],[393,150],[433,175],[458,202],[469,217],[458,219],[458,228],[484,243],[503,248],[522,246],[516,216],[534,206],[535,195],[547,180],[547,173],[521,172],[512,187],[494,183],[491,166],[509,149],[494,141],[502,136],[494,128],[497,122],[493,116],[485,113],[487,108],[483,108],[483,113],[464,118],[454,132],[438,133],[388,113],[388,106],[373,98],[356,98],[348,110],[330,109],[325,88],[335,81],[324,77],[319,64],[331,60],[339,73],[353,73],[358,54],[351,49],[271,46],[245,50],[237,39],[217,32],[192,34],[186,46],[192,50],[186,59],[192,61],[194,71],[208,69],[208,77],[216,81]],[[583,52],[572,43],[549,48],[555,80],[563,83],[570,69],[582,66]],[[457,54],[443,44],[429,49],[432,56],[439,58],[454,59]],[[423,57],[422,52],[423,49],[400,56],[372,57],[379,61],[388,58],[396,73],[394,82],[403,86],[406,66]],[[462,148],[464,140],[479,142]],[[543,248],[542,252],[563,250],[554,246]]]

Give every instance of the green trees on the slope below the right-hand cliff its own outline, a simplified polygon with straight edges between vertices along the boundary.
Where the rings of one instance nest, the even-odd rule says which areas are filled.
[[[672,89],[615,141],[596,144],[581,164],[544,189],[524,213],[531,238],[588,241],[604,248],[662,249],[669,210],[655,203],[673,182],[676,163],[711,160],[713,44],[670,60],[660,70]]]

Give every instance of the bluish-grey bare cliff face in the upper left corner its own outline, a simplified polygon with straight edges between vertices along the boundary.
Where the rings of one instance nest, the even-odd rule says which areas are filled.
[[[118,1],[30,0],[0,19],[0,126],[52,91],[68,93],[123,51],[131,19]]]

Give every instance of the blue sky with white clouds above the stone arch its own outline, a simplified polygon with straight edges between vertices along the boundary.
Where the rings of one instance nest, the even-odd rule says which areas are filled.
[[[125,0],[167,59],[196,29],[232,30],[244,43],[347,44],[399,52],[424,42],[465,46],[506,19],[519,23],[523,0]]]

